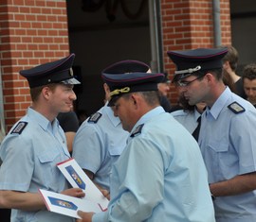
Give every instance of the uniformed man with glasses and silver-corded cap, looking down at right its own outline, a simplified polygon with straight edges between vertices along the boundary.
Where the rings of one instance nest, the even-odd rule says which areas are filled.
[[[223,82],[222,59],[228,50],[170,51],[174,82],[191,105],[207,104],[198,144],[215,196],[218,222],[256,221],[256,110]]]

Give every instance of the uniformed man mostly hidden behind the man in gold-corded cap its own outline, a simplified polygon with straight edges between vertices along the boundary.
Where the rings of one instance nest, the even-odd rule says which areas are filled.
[[[111,64],[104,72],[131,73],[147,72],[149,66],[138,60],[121,60]],[[73,145],[73,158],[87,176],[101,188],[109,191],[109,176],[126,145],[129,133],[122,129],[113,108],[107,106],[110,99],[109,87],[103,84],[106,104],[92,114],[79,128]]]

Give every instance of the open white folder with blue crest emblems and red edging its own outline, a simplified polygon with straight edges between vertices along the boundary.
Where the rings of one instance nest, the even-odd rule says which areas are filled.
[[[101,194],[101,191],[83,172],[81,166],[75,159],[71,158],[65,162],[59,162],[57,167],[64,174],[65,179],[69,181],[71,186],[81,188],[85,196],[83,198],[65,196],[40,189],[48,211],[80,218],[77,214],[79,210],[95,213],[107,210],[109,200]]]

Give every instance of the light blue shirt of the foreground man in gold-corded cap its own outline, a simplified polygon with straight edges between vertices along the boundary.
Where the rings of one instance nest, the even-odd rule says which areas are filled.
[[[93,222],[215,221],[207,170],[188,130],[157,107],[132,131],[113,166],[108,211]]]

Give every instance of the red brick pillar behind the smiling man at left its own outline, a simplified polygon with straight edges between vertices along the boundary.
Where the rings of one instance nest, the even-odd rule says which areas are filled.
[[[69,53],[65,0],[1,0],[0,67],[8,129],[30,105],[27,69]]]

